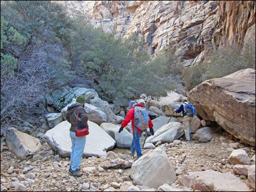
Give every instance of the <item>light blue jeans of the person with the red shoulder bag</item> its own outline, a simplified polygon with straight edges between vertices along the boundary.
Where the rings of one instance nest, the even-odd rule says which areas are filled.
[[[75,132],[69,132],[71,138],[70,168],[75,171],[82,162],[83,150],[86,145],[86,136],[76,137]]]

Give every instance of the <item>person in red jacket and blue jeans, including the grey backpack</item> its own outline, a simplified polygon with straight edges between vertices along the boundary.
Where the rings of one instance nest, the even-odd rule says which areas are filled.
[[[124,127],[126,127],[130,121],[132,121],[133,134],[130,148],[131,156],[134,157],[136,151],[138,159],[142,156],[141,144],[139,143],[139,139],[141,138],[143,131],[147,130],[147,128],[149,128],[151,135],[154,135],[154,125],[148,115],[147,110],[144,108],[144,105],[142,103],[137,103],[136,101],[130,102],[130,110],[128,111],[124,121],[121,123],[121,127],[119,128],[118,133],[121,133],[121,131],[123,131]]]

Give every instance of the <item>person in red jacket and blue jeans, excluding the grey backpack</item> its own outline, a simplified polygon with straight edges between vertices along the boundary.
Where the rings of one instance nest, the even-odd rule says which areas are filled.
[[[131,143],[131,156],[134,157],[135,151],[137,153],[137,158],[140,158],[142,156],[141,152],[141,144],[139,143],[139,138],[141,138],[141,135],[143,131],[135,126],[135,107],[143,107],[142,103],[137,103],[136,101],[131,101],[130,102],[130,110],[126,114],[126,117],[124,121],[121,123],[121,127],[119,128],[119,133],[123,131],[124,127],[127,126],[127,124],[132,121],[132,143]],[[149,118],[149,131],[151,135],[154,135],[154,129],[153,129],[153,123],[151,119]]]

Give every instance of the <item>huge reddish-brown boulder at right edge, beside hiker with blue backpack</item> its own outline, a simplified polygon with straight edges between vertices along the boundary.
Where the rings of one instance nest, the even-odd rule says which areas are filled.
[[[204,120],[216,121],[244,143],[255,146],[255,70],[206,80],[189,93],[188,100]]]

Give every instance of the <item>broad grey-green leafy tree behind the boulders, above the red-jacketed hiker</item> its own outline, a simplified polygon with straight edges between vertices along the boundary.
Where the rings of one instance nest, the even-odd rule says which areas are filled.
[[[94,29],[86,20],[74,20],[79,21],[70,42],[74,70],[94,80],[103,100],[132,99],[143,92],[159,97],[173,88],[173,83],[164,79],[170,71],[166,70],[166,55],[162,62],[150,61],[150,55],[142,49],[143,41],[135,34],[121,39]]]

